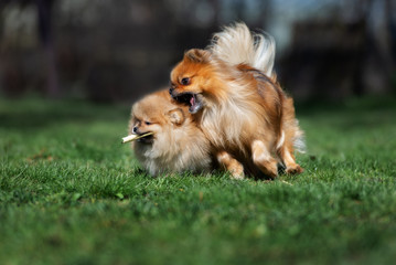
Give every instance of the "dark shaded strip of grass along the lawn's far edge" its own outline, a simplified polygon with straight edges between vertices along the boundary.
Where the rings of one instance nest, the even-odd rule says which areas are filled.
[[[298,118],[313,117],[342,129],[382,126],[396,116],[396,97],[349,98],[340,102],[311,100],[296,104]],[[0,128],[42,129],[57,123],[127,123],[130,106],[98,105],[84,100],[24,98],[0,100]]]

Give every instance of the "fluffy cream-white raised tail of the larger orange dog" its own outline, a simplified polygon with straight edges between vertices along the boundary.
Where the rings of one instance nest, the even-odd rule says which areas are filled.
[[[215,33],[208,49],[228,64],[244,63],[272,76],[275,41],[266,32],[251,33],[245,23],[235,23]]]

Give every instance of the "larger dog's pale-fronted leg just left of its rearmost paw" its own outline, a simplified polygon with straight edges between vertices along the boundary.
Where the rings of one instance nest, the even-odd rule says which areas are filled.
[[[263,173],[271,179],[278,177],[278,162],[271,157],[269,148],[261,140],[254,140],[251,144],[253,162]]]

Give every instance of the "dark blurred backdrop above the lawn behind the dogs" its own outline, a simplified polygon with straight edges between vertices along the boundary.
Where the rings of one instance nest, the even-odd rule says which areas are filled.
[[[0,96],[130,103],[234,21],[275,36],[297,100],[396,94],[393,0],[0,0]]]

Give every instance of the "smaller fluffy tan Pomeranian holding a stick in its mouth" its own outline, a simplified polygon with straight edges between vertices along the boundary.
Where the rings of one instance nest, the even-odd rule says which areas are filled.
[[[152,93],[133,104],[129,132],[138,136],[153,132],[132,142],[139,162],[151,176],[161,173],[208,173],[218,167],[239,176],[243,166],[224,155],[220,162],[212,147],[189,113],[169,96],[168,89]]]

